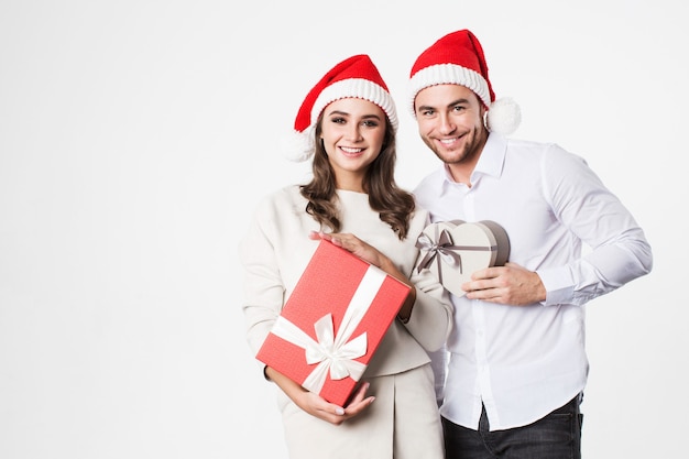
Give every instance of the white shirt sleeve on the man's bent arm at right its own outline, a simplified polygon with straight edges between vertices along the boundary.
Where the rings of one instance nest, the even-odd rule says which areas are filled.
[[[583,159],[556,146],[544,155],[542,177],[556,217],[586,245],[578,260],[537,270],[546,306],[583,305],[650,272],[644,231]]]

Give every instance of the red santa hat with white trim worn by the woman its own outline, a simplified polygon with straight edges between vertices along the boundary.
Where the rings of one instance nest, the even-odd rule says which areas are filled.
[[[294,120],[294,133],[284,145],[288,159],[306,161],[311,157],[315,152],[314,130],[320,112],[330,102],[348,97],[375,103],[397,130],[397,112],[387,85],[371,58],[359,54],[332,67],[306,95]]]

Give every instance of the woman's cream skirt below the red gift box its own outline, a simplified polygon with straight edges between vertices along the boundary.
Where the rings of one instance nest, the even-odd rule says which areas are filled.
[[[365,379],[375,401],[339,426],[296,406],[278,390],[291,459],[444,459],[430,364]]]

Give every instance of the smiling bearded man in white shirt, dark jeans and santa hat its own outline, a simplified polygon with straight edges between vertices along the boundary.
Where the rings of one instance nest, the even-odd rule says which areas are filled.
[[[435,356],[437,378],[447,371],[447,458],[579,458],[584,305],[647,274],[650,247],[581,157],[505,138],[518,107],[495,101],[470,31],[424,51],[409,88],[419,134],[444,163],[415,189],[419,204],[434,222],[491,220],[510,240],[504,266],[452,295],[447,367]]]

